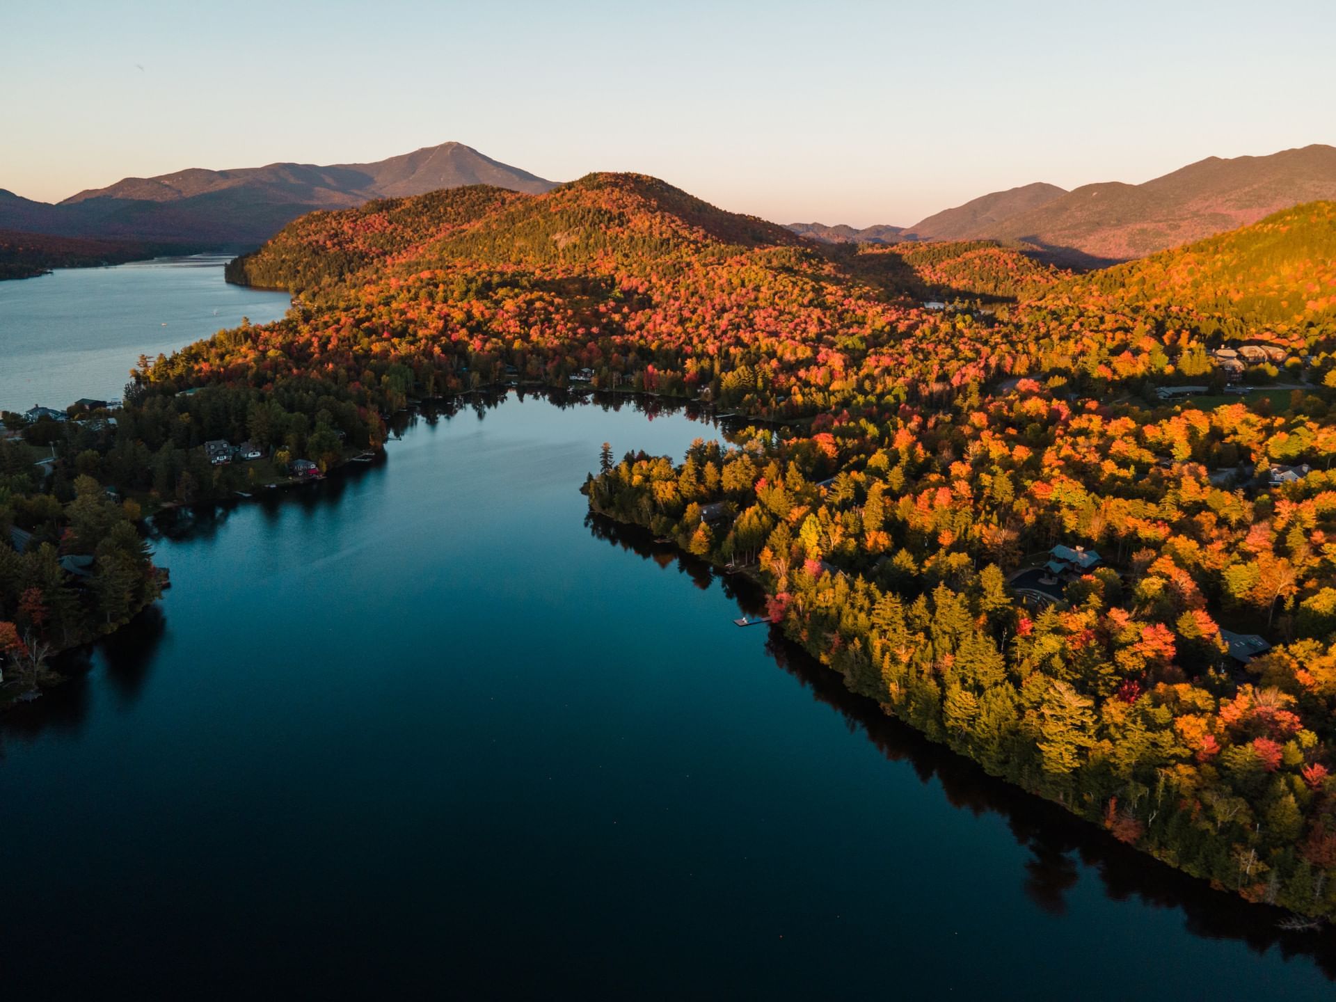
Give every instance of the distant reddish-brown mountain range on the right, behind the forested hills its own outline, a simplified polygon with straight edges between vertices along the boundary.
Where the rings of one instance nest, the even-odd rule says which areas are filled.
[[[1108,265],[1255,223],[1277,210],[1336,198],[1336,148],[1205,160],[1144,184],[1106,182],[1065,191],[1026,184],[995,191],[915,226],[794,223],[828,242],[991,239],[1033,247],[1066,265]]]

